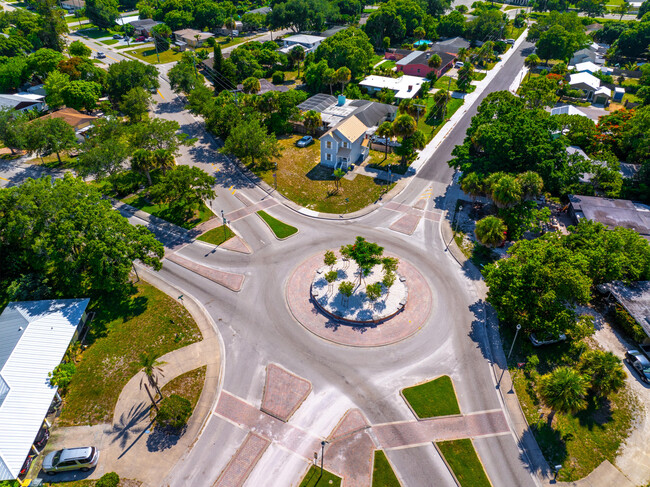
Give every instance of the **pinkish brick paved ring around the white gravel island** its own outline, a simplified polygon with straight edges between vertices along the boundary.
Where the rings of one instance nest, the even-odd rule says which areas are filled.
[[[323,252],[299,264],[289,276],[286,299],[293,317],[308,331],[339,345],[381,347],[402,341],[417,333],[427,322],[433,307],[431,288],[413,264],[398,255],[399,275],[406,278],[409,298],[403,310],[378,324],[351,324],[323,313],[311,297],[316,270],[323,266]]]

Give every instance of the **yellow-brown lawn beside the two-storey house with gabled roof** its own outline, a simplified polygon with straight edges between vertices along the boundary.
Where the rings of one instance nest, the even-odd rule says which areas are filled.
[[[274,162],[278,168],[251,170],[266,183],[273,186],[273,172],[277,173],[278,191],[297,204],[310,210],[325,213],[349,213],[360,210],[379,199],[390,189],[384,181],[368,176],[357,176],[353,181],[341,180],[336,192],[333,171],[321,166],[320,141],[309,147],[296,147],[300,135],[279,139],[282,155]],[[346,201],[346,199],[348,201]]]

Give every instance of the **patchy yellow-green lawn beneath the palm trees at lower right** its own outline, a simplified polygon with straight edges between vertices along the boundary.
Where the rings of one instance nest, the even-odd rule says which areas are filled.
[[[513,333],[502,327],[501,335],[504,346],[510,346]],[[514,350],[510,373],[517,397],[545,458],[551,465],[562,464],[558,480],[571,482],[581,479],[605,459],[614,463],[616,452],[627,438],[636,416],[638,403],[632,394],[623,390],[603,402],[590,399],[587,409],[577,414],[558,412],[549,424],[551,411],[537,396],[536,377],[560,365],[575,365],[579,357],[570,342],[533,349],[527,340],[522,340]],[[526,362],[532,353],[537,355],[540,363],[529,379],[515,365]]]

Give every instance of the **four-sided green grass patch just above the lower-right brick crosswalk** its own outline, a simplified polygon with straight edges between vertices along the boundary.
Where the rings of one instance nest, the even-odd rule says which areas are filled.
[[[402,394],[419,418],[460,414],[454,385],[448,375],[407,387],[402,390]]]

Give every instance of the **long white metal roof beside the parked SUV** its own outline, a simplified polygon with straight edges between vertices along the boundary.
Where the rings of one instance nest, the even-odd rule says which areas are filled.
[[[0,480],[20,473],[56,393],[47,374],[61,363],[88,302],[14,302],[0,315]]]

